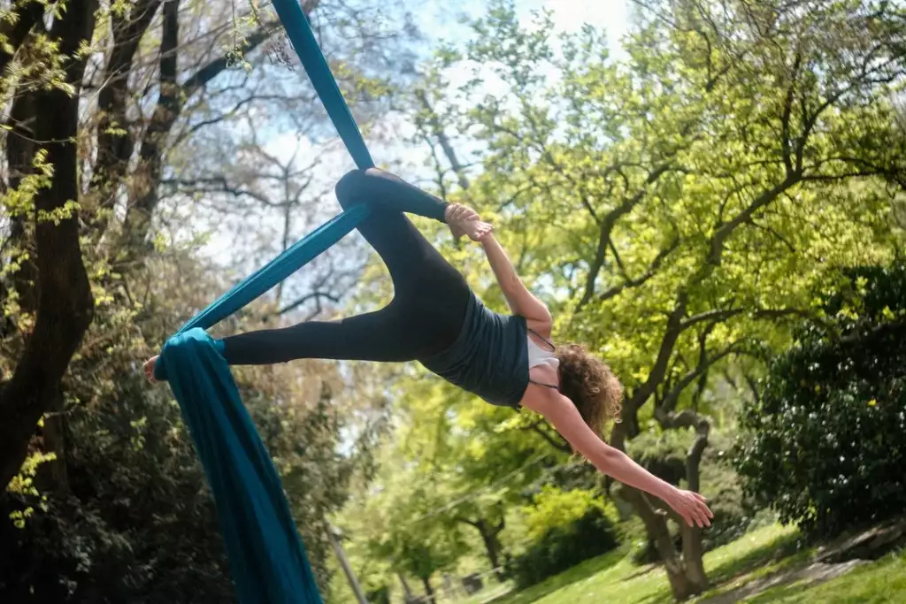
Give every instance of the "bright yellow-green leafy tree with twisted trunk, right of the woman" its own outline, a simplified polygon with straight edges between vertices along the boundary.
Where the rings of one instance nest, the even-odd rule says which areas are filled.
[[[629,58],[615,63],[593,28],[554,41],[544,15],[520,27],[498,3],[430,76],[478,66],[455,94],[430,87],[428,103],[446,118],[435,123],[454,121],[479,149],[462,195],[496,221],[526,280],[545,283],[536,291],[559,335],[591,344],[626,382],[612,445],[649,419],[696,432],[692,490],[711,425],[696,393],[731,360],[757,365],[782,346],[837,267],[887,254],[888,186],[906,182],[890,102],[904,67],[901,10],[803,9],[644,5]],[[477,89],[492,78],[505,92]],[[522,421],[534,420],[511,425]],[[700,531],[682,529],[679,553],[656,506],[621,493],[674,594],[704,590]]]

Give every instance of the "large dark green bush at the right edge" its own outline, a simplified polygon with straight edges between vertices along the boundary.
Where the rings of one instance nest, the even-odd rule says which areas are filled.
[[[906,265],[846,274],[742,418],[748,493],[808,536],[906,509]]]

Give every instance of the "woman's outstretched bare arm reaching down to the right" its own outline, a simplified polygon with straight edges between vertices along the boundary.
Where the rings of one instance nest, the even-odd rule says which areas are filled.
[[[573,401],[550,388],[535,388],[534,396],[525,397],[523,406],[543,415],[557,432],[585,456],[602,473],[623,484],[660,497],[679,513],[689,526],[710,526],[714,514],[705,498],[698,493],[678,489],[632,461],[619,449],[607,445],[585,424]]]

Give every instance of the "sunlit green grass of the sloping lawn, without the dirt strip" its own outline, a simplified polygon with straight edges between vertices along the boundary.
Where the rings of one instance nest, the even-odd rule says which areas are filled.
[[[795,542],[795,529],[773,525],[708,552],[705,568],[715,587],[691,601],[698,604],[906,602],[906,554],[902,552],[880,561],[865,562],[824,582],[810,585],[808,580],[793,580],[752,595],[735,591],[745,589],[753,581],[794,573],[809,566],[812,551],[795,551]],[[485,597],[471,601],[488,604],[668,604],[673,601],[663,570],[633,566],[625,550],[586,561],[528,590],[496,598],[494,595],[487,592]]]

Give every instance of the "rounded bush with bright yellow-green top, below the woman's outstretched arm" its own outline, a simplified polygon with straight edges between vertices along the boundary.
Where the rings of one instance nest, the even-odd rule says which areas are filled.
[[[566,503],[561,514],[550,516],[555,503]],[[529,513],[530,533],[536,535],[522,554],[513,558],[511,571],[516,586],[525,589],[576,564],[600,556],[617,546],[609,509],[593,499],[590,492],[560,492],[550,487],[535,498],[537,507]],[[551,522],[542,523],[542,519]],[[554,520],[556,519],[556,520]]]

